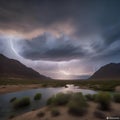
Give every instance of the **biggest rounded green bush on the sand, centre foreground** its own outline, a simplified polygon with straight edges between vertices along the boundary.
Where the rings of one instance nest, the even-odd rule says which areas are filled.
[[[87,102],[82,93],[74,93],[68,103],[68,111],[72,115],[82,116],[87,111]]]

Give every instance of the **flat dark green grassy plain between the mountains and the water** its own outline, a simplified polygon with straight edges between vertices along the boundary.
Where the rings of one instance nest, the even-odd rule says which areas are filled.
[[[120,80],[39,80],[39,79],[18,79],[0,78],[0,85],[29,85],[40,84],[42,87],[61,87],[66,84],[74,84],[94,90],[114,91],[120,85]]]

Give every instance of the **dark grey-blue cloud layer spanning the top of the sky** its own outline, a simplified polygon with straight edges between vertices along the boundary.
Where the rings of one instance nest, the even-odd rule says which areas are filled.
[[[75,34],[86,35],[118,22],[119,6],[117,0],[0,0],[0,28],[28,32],[71,21]]]

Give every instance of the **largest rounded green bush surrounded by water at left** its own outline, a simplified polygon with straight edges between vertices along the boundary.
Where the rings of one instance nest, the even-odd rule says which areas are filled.
[[[13,107],[15,109],[22,108],[22,107],[25,107],[25,106],[28,106],[28,105],[30,105],[30,98],[29,97],[23,97],[21,99],[16,99],[13,102]]]

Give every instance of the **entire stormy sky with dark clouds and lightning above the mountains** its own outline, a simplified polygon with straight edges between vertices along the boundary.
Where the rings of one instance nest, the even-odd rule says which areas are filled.
[[[0,53],[57,79],[120,62],[119,0],[0,0]]]

